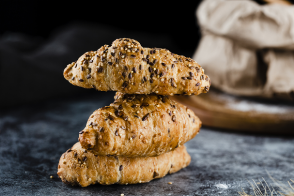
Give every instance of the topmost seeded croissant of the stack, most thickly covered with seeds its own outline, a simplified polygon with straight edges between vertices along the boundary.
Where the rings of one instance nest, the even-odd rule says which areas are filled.
[[[191,58],[167,49],[143,48],[132,39],[83,54],[64,70],[73,85],[126,94],[198,95],[210,79]]]

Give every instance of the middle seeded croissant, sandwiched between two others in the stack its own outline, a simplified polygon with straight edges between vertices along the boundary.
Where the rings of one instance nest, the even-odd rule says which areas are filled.
[[[196,136],[201,121],[186,106],[160,95],[117,93],[79,132],[85,149],[101,156],[150,157]]]

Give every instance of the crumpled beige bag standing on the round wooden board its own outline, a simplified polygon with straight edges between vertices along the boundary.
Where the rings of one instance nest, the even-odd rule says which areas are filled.
[[[204,0],[193,58],[224,92],[294,100],[294,6]]]

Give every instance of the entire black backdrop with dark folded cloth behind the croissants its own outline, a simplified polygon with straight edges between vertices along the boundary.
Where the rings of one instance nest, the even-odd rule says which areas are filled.
[[[94,93],[70,85],[63,69],[116,38],[192,56],[200,39],[199,2],[1,1],[0,107]]]

